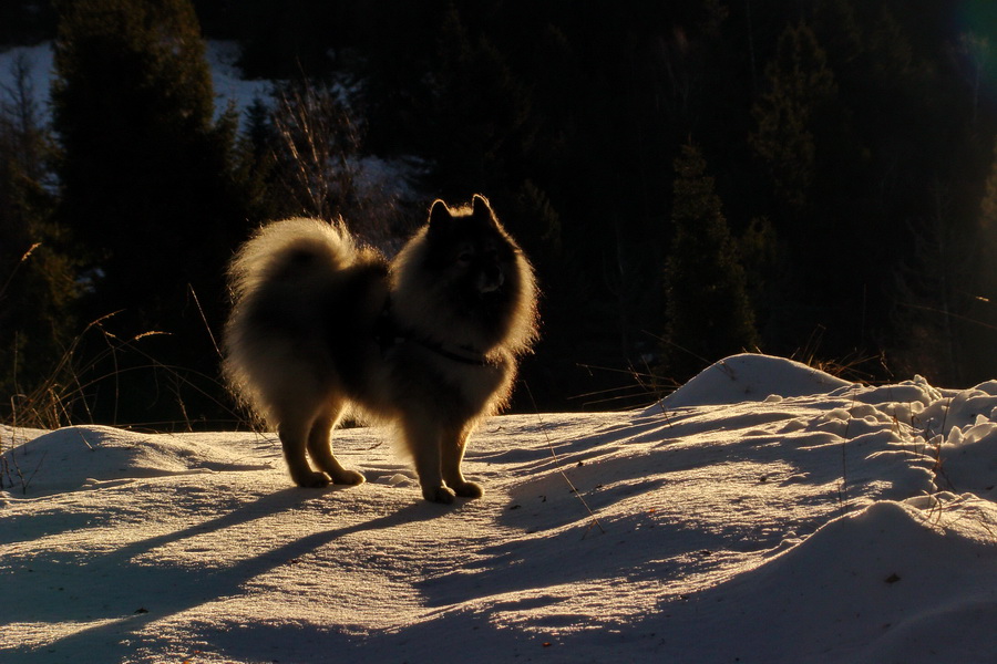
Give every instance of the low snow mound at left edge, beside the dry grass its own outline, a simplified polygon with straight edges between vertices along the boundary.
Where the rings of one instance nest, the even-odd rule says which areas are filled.
[[[194,434],[138,434],[106,426],[71,426],[7,450],[4,486],[13,494],[45,496],[106,483],[223,470],[259,470],[236,450]]]

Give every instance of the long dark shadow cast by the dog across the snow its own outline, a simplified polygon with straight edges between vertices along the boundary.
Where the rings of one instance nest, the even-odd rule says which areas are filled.
[[[136,633],[147,624],[168,619],[219,598],[238,594],[241,592],[240,588],[254,578],[281,566],[294,564],[300,557],[315,552],[340,538],[358,532],[388,529],[403,523],[430,521],[452,512],[453,507],[459,509],[459,506],[448,509],[420,500],[352,526],[330,528],[292,539],[274,549],[220,569],[176,564],[146,566],[135,562],[136,558],[157,548],[197,536],[222,533],[232,527],[292,511],[306,504],[328,498],[330,494],[339,490],[343,489],[282,489],[207,521],[125,544],[104,556],[89,559],[79,566],[79,578],[92,579],[96,575],[113,579],[111,583],[115,590],[114,594],[109,598],[95,598],[94,605],[88,608],[88,618],[100,621],[100,624],[56,640],[44,647],[19,652],[18,661],[24,663],[48,662],[51,661],[52,653],[85,653],[92,646],[96,646],[101,651],[107,647],[107,643],[120,643],[123,653],[129,650],[124,643],[134,641]],[[47,564],[42,560],[37,560],[35,563],[38,563],[34,566],[35,568]],[[62,563],[56,559],[52,560],[52,564]],[[66,588],[65,590],[72,589]],[[82,590],[83,587],[81,587]],[[134,599],[131,600],[134,605],[126,604],[125,602],[129,600],[123,596],[130,591],[134,593]],[[35,615],[31,616],[32,620],[66,622],[81,618],[75,614],[81,611],[79,604],[69,603],[63,606],[52,602],[45,602],[45,604],[50,608],[40,609]],[[70,611],[73,614],[70,614]],[[133,611],[134,613],[132,613]]]

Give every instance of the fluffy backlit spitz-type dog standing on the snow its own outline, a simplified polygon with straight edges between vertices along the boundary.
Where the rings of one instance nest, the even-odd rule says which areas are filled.
[[[481,496],[461,473],[467,436],[506,403],[536,338],[533,269],[484,197],[436,200],[391,262],[341,225],[270,224],[235,256],[229,286],[224,372],[277,427],[295,483],[363,481],[329,440],[350,408],[398,425],[426,500]]]

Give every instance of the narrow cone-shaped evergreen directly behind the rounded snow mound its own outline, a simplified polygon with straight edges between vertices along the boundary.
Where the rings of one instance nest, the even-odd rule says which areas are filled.
[[[671,220],[675,240],[668,257],[668,377],[685,380],[705,363],[758,343],[737,247],[693,143],[675,160]]]

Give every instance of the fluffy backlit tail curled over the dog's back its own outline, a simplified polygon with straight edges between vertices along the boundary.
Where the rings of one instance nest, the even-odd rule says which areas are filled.
[[[342,224],[294,218],[264,226],[238,250],[228,268],[236,308],[264,284],[328,278],[348,267],[357,248]]]

